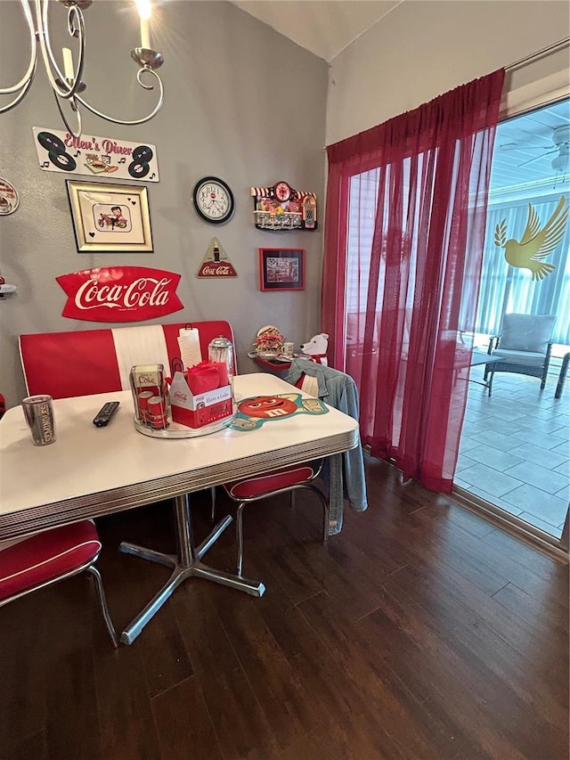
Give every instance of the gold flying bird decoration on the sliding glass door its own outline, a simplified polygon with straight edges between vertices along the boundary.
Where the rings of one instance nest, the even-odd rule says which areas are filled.
[[[510,266],[530,269],[533,280],[543,280],[547,274],[554,272],[556,266],[542,259],[549,256],[557,247],[566,232],[568,207],[564,208],[566,197],[560,198],[554,213],[541,229],[541,222],[536,209],[528,204],[528,219],[525,232],[520,241],[507,240],[507,220],[495,227],[495,245],[505,249],[505,259]]]

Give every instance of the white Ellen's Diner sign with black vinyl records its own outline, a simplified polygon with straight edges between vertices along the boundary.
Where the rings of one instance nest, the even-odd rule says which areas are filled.
[[[39,168],[46,172],[159,182],[154,145],[87,134],[74,137],[70,132],[45,127],[33,127],[32,131]]]

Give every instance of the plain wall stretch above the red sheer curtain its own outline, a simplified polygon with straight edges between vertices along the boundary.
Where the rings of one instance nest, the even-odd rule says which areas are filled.
[[[326,144],[509,66],[568,29],[565,0],[406,0],[332,61]],[[559,86],[567,94],[567,47],[508,74],[505,92],[520,90],[527,108]]]

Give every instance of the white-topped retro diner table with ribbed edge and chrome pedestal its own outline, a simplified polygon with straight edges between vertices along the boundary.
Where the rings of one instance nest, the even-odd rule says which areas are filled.
[[[248,396],[300,392],[265,373],[234,379],[237,401]],[[120,407],[106,428],[94,415],[106,401]],[[338,410],[311,416],[295,414],[267,421],[253,430],[220,429],[206,436],[159,439],[134,428],[130,391],[61,398],[53,402],[57,440],[32,445],[21,407],[0,422],[0,540],[56,527],[79,519],[175,499],[177,554],[121,544],[172,569],[155,597],[121,634],[130,644],[168,597],[188,577],[201,577],[253,596],[259,581],[233,576],[203,564],[202,557],[232,523],[228,515],[199,546],[194,546],[189,494],[209,486],[255,475],[269,468],[306,462],[354,448],[358,422]]]

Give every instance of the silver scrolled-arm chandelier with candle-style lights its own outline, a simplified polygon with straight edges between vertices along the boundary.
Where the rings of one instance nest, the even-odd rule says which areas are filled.
[[[74,64],[72,53],[68,47],[64,47],[61,50],[63,71],[61,71],[53,57],[47,20],[47,10],[50,0],[20,0],[29,30],[30,55],[28,69],[17,85],[0,87],[0,95],[14,95],[11,102],[4,106],[0,106],[0,113],[5,113],[17,106],[28,93],[28,89],[36,74],[38,57],[37,47],[39,45],[42,60],[45,65],[45,72],[50,85],[52,86],[55,102],[57,103],[63,123],[71,135],[74,137],[79,137],[81,135],[80,106],[84,106],[87,110],[94,113],[95,116],[104,118],[107,121],[112,121],[114,124],[126,124],[131,126],[134,124],[144,124],[146,121],[150,121],[150,119],[159,112],[164,100],[164,87],[156,72],[156,69],[159,69],[160,66],[162,66],[164,59],[160,53],[157,53],[157,51],[153,50],[151,47],[149,29],[151,0],[135,0],[141,20],[141,46],[135,47],[134,50],[131,50],[131,58],[133,58],[139,66],[136,73],[139,85],[142,86],[142,89],[144,90],[153,90],[154,85],[158,85],[159,101],[147,116],[136,118],[132,121],[108,116],[101,110],[95,109],[92,105],[86,102],[85,97],[82,96],[86,87],[85,82],[82,79],[85,59],[85,20],[83,12],[89,8],[93,3],[93,0],[56,0],[56,2],[64,5],[68,9],[68,32],[70,37],[77,39],[77,62]],[[33,14],[31,10],[32,4],[35,9],[35,14]],[[143,77],[146,78],[146,82],[142,80]],[[156,80],[154,83],[152,83],[152,78]],[[66,115],[61,108],[61,102],[63,101],[69,101],[71,111],[75,114],[75,121],[77,123],[75,129],[69,125],[68,118],[66,118]]]

